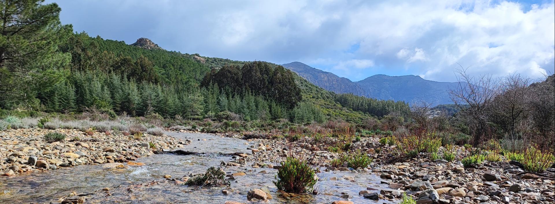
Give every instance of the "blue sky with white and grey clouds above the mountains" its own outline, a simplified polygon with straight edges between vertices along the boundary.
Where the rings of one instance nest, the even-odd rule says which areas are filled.
[[[555,73],[551,1],[48,0],[63,24],[206,57],[302,62],[359,81],[375,74],[456,81],[453,71]]]

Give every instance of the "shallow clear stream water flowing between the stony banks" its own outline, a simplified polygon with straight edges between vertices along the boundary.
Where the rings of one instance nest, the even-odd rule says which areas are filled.
[[[86,203],[225,203],[225,201],[246,202],[246,195],[221,193],[223,187],[189,187],[176,185],[173,181],[164,180],[168,174],[176,179],[190,173],[201,173],[210,166],[219,166],[221,161],[231,161],[229,156],[216,154],[232,152],[248,152],[245,140],[220,137],[212,134],[190,134],[166,132],[180,139],[193,140],[183,150],[203,152],[201,155],[157,154],[139,158],[143,166],[130,166],[129,169],[104,170],[100,165],[82,165],[60,168],[53,171],[33,172],[31,175],[0,178],[0,203],[49,203],[60,197],[68,196],[75,191],[78,194],[89,194]],[[199,140],[200,139],[200,140]],[[202,139],[206,139],[203,141]],[[266,171],[260,172],[260,171]],[[345,200],[341,193],[349,193],[355,203],[378,203],[359,196],[366,187],[386,188],[380,184],[380,178],[364,173],[325,172],[317,175],[321,178],[317,183],[319,195],[301,195],[286,200],[276,196],[277,188],[272,183],[277,170],[250,167],[226,167],[228,174],[243,171],[246,176],[236,176],[231,182],[235,192],[247,192],[253,188],[268,187],[273,199],[270,203],[331,203]],[[353,176],[356,182],[347,180],[329,180],[330,177]],[[158,182],[155,182],[158,181]],[[112,195],[102,192],[109,187]],[[374,192],[377,192],[375,190]]]

